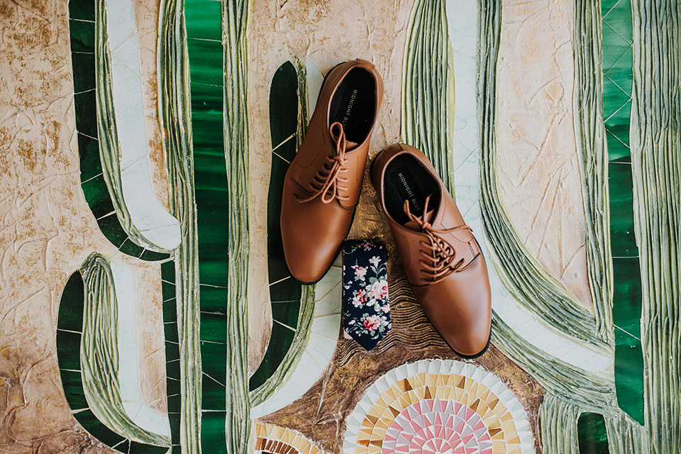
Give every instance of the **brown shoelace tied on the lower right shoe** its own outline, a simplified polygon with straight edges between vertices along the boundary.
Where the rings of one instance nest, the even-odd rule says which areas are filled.
[[[419,259],[419,263],[423,267],[423,272],[426,272],[429,280],[434,284],[440,282],[442,279],[457,271],[461,265],[463,265],[464,259],[454,261],[456,256],[456,251],[453,246],[443,238],[445,233],[451,233],[453,231],[468,229],[472,231],[469,226],[458,226],[455,228],[450,228],[448,230],[438,230],[431,226],[431,223],[426,221],[426,214],[428,213],[428,201],[430,201],[431,196],[426,197],[426,202],[423,204],[423,216],[420,218],[414,216],[409,211],[409,201],[404,201],[404,214],[409,218],[409,220],[414,221],[416,225],[421,228],[423,233],[428,236],[428,241],[419,240],[419,243],[423,245],[426,250],[421,249],[421,255],[423,259]],[[432,263],[433,265],[430,265]]]

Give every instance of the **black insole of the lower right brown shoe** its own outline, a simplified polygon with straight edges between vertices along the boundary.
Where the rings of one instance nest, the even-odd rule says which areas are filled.
[[[383,182],[385,208],[389,216],[404,225],[409,218],[404,213],[404,201],[409,201],[409,211],[416,217],[423,216],[428,201],[428,211],[440,204],[438,183],[430,173],[411,155],[400,155],[385,169]]]

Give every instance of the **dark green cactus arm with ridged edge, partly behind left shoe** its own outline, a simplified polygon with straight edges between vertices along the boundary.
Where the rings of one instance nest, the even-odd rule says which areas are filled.
[[[314,286],[291,276],[284,259],[279,214],[289,163],[307,126],[306,67],[284,62],[270,86],[272,172],[267,194],[267,265],[272,303],[272,335],[260,367],[250,377],[251,405],[264,402],[293,370],[302,355],[314,314]]]

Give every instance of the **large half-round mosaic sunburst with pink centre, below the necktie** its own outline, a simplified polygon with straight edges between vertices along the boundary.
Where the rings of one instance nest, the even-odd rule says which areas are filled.
[[[525,412],[497,375],[454,360],[396,367],[348,417],[343,454],[526,454]]]

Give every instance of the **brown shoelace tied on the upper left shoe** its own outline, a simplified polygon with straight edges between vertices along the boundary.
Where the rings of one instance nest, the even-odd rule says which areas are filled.
[[[333,155],[333,157],[326,157],[328,162],[324,163],[323,167],[319,169],[319,172],[317,172],[310,182],[310,190],[312,195],[306,197],[305,199],[298,199],[301,204],[311,201],[317,196],[321,196],[321,201],[324,204],[331,203],[333,199],[342,201],[350,199],[348,196],[341,196],[339,192],[347,190],[347,188],[341,186],[339,182],[348,182],[347,178],[343,178],[339,175],[340,172],[347,172],[344,167],[348,162],[348,160],[345,159],[345,148],[348,146],[348,144],[345,141],[345,131],[343,131],[343,125],[341,125],[341,123],[338,121],[331,123],[329,133],[331,134],[333,142],[336,143],[336,153]]]

